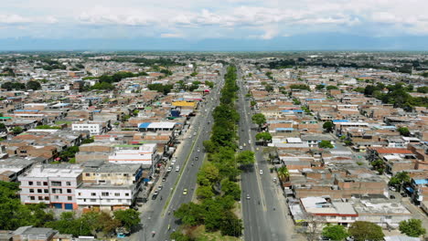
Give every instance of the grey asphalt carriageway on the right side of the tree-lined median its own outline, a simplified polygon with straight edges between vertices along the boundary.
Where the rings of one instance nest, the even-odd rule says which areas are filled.
[[[273,183],[274,173],[269,171],[269,163],[263,160],[262,146],[255,145],[257,127],[252,124],[250,100],[245,100],[248,89],[244,87],[241,74],[238,110],[240,110],[240,145],[243,150],[255,152],[256,162],[252,171],[241,174],[242,214],[245,240],[289,240],[293,224],[288,223],[282,190]],[[245,146],[244,146],[245,143]],[[257,150],[259,149],[259,150]],[[260,174],[262,170],[262,174]],[[247,198],[247,195],[250,198]]]

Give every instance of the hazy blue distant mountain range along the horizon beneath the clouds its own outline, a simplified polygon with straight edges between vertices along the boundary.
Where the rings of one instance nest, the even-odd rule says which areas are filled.
[[[176,50],[176,51],[287,51],[382,50],[427,51],[428,36],[361,37],[344,34],[308,34],[258,38],[0,38],[0,51],[11,50]]]

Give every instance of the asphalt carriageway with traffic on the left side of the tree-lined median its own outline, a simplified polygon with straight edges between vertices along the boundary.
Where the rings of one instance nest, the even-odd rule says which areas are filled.
[[[172,172],[167,176],[166,182],[159,181],[158,184],[162,184],[163,189],[155,200],[152,200],[152,195],[150,195],[149,201],[144,204],[141,215],[142,228],[131,236],[131,240],[169,240],[169,235],[177,229],[178,224],[173,213],[181,204],[190,202],[195,193],[198,169],[205,158],[202,142],[209,140],[209,132],[213,123],[211,112],[219,105],[219,90],[224,84],[223,74],[215,89],[199,107],[197,116],[191,120],[190,128],[180,143],[183,145],[181,152],[175,155],[177,162]],[[194,161],[196,156],[198,156],[198,161]],[[180,166],[180,172],[176,172],[177,165]],[[155,188],[158,184],[155,185]],[[186,195],[183,194],[185,188],[187,189]]]

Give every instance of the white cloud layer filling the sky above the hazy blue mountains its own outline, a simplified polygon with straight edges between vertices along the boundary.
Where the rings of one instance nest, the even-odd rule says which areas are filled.
[[[0,25],[37,24],[51,29],[67,25],[81,31],[92,27],[91,33],[111,37],[128,32],[131,36],[271,39],[317,29],[352,33],[357,27],[361,35],[428,35],[427,8],[427,0],[226,0],[221,5],[210,0],[23,0],[2,3]]]

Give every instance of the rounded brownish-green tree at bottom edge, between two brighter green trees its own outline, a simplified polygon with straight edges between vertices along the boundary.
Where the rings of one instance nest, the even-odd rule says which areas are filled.
[[[355,241],[383,240],[383,232],[380,225],[365,221],[356,221],[348,229],[349,235],[354,236]]]

